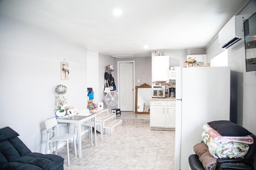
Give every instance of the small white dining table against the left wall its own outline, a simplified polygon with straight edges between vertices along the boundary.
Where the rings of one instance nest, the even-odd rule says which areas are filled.
[[[84,124],[86,121],[94,118],[94,127],[96,125],[96,115],[95,114],[90,114],[90,115],[74,115],[70,117],[57,117],[56,120],[57,122],[60,123],[68,123],[68,133],[70,133],[70,123],[75,123],[78,128],[78,158],[82,158],[82,142],[81,142],[81,125]],[[95,146],[97,145],[97,140],[96,140],[96,128],[94,128],[94,138],[95,138]]]

